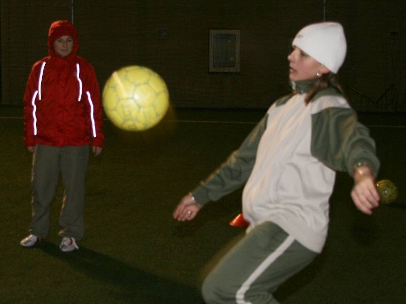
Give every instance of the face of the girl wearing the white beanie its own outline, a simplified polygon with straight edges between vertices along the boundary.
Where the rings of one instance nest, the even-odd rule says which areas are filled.
[[[314,79],[321,74],[329,72],[328,68],[297,47],[293,47],[293,51],[289,54],[288,60],[289,79],[291,81]],[[319,73],[319,75],[317,75],[317,73]]]

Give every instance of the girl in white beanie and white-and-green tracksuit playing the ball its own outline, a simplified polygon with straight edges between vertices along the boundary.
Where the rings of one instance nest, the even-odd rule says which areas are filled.
[[[371,214],[379,204],[375,142],[335,78],[347,50],[343,27],[308,25],[292,47],[292,94],[270,106],[241,147],[173,214],[191,220],[207,202],[245,184],[247,235],[206,278],[207,303],[278,303],[273,293],[280,284],[323,248],[335,171],[354,177],[351,196],[360,211]]]

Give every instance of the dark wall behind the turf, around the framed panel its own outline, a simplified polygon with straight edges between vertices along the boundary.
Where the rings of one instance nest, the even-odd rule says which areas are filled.
[[[405,111],[405,13],[403,0],[2,0],[2,102],[21,103],[32,63],[47,54],[49,24],[73,17],[78,54],[92,62],[101,88],[115,69],[139,64],[162,76],[175,106],[266,108],[289,92],[295,33],[325,16],[347,34],[340,80],[354,107]],[[239,73],[209,72],[210,29],[241,30]]]

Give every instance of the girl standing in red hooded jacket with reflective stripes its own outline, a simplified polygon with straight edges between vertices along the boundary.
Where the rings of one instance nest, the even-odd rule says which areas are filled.
[[[55,21],[48,32],[49,55],[31,68],[24,94],[24,142],[33,153],[31,247],[48,235],[49,205],[59,172],[65,193],[59,224],[60,249],[79,247],[83,238],[84,184],[89,145],[101,153],[104,135],[100,92],[92,65],[76,55],[78,34],[72,23]]]

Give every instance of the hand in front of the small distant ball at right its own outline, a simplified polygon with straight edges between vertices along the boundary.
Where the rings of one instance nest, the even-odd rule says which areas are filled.
[[[355,206],[365,214],[372,214],[372,209],[379,206],[379,194],[375,186],[375,179],[372,170],[354,171],[354,187],[351,197]],[[366,171],[366,172],[365,172]]]

